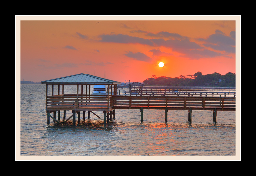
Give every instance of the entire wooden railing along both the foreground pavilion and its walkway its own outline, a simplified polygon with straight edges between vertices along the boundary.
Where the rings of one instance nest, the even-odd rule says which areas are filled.
[[[122,96],[122,95],[72,95],[48,96],[47,109],[197,109],[235,111],[235,97],[170,97],[170,96]]]

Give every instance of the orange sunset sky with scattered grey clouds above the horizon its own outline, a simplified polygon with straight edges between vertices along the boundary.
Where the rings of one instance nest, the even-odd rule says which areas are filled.
[[[236,72],[235,20],[109,19],[21,19],[20,79],[41,82],[85,73],[143,82],[152,75]]]

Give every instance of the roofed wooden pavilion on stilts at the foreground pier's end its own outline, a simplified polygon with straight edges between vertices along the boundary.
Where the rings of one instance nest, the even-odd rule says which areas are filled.
[[[72,116],[70,116],[65,121],[65,123],[69,119],[73,118],[73,124],[76,123],[76,113],[78,122],[80,121],[81,111],[83,112],[83,119],[85,118],[86,111],[88,111],[88,117],[92,111],[103,111],[104,123],[106,123],[106,119],[109,120],[109,116],[110,118],[112,118],[112,115],[114,117],[114,109],[112,106],[113,102],[111,97],[112,95],[117,94],[117,84],[120,84],[120,82],[81,73],[77,75],[46,80],[42,81],[41,83],[46,84],[45,109],[48,124],[50,123],[50,117],[59,123],[60,111],[64,111],[64,119],[66,118],[66,111],[72,111]],[[54,85],[58,85],[58,92],[56,93],[54,92]],[[76,94],[64,94],[64,85],[77,85]],[[106,85],[107,94],[92,95],[91,85]],[[48,95],[48,89],[50,86],[51,95]],[[60,86],[62,86],[62,93],[60,92]],[[81,92],[79,92],[79,86],[81,86]],[[58,120],[56,120],[57,112]],[[50,113],[53,113],[53,115]]]

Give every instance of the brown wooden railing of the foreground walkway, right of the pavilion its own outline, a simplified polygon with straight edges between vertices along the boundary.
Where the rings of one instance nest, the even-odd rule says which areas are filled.
[[[119,96],[112,97],[113,109],[197,109],[235,111],[235,97],[168,97]]]

